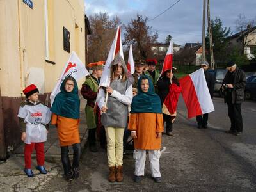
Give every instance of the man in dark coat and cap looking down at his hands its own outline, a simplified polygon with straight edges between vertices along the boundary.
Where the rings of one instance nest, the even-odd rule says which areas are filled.
[[[246,76],[243,70],[239,69],[233,61],[227,64],[227,70],[228,72],[223,79],[222,88],[225,91],[224,102],[227,102],[228,105],[228,116],[231,121],[231,127],[226,132],[240,136],[243,132],[241,103],[244,101]]]

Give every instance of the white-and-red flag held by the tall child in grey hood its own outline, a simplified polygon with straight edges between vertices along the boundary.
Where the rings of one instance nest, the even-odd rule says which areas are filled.
[[[115,58],[116,54],[119,54],[124,59],[120,26],[118,26],[118,28],[116,30],[116,36],[111,45],[111,48],[110,48],[110,51],[108,54],[108,58],[105,63],[105,67],[104,67],[102,76],[100,78],[99,87],[100,86],[103,86],[103,87],[109,86],[109,84],[110,84],[110,64],[113,61],[113,59]]]

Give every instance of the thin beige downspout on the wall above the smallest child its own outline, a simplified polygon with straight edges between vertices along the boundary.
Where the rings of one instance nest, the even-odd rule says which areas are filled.
[[[23,96],[22,90],[24,90],[24,62],[23,62],[23,56],[24,56],[24,49],[22,45],[22,19],[21,19],[21,0],[17,0],[18,2],[18,17],[19,17],[19,53],[20,53],[20,95]]]

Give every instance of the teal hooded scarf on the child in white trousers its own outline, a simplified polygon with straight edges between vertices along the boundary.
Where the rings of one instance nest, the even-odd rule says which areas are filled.
[[[142,79],[148,79],[147,93],[141,90]],[[162,113],[161,100],[154,92],[154,85],[148,76],[141,76],[138,81],[138,95],[132,99],[131,113]]]

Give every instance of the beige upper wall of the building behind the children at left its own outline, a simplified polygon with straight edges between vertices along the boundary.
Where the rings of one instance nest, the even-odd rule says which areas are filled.
[[[41,93],[51,92],[72,51],[85,64],[83,0],[33,0],[33,9],[22,0],[1,0],[0,17],[2,96],[20,97],[24,86],[31,83]],[[70,53],[63,50],[63,26],[70,32]]]

